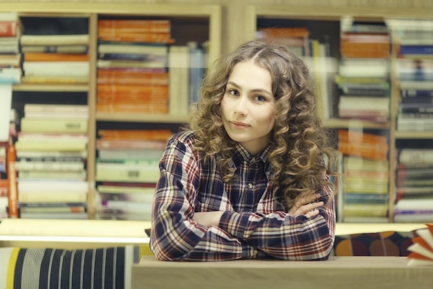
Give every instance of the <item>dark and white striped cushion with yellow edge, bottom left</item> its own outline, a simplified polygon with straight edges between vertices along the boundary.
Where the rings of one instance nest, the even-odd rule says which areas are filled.
[[[0,248],[0,289],[131,288],[131,266],[145,251]]]

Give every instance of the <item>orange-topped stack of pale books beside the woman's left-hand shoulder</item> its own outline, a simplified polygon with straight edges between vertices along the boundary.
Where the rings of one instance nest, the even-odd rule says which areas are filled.
[[[150,221],[169,130],[100,129],[96,181],[96,217]]]

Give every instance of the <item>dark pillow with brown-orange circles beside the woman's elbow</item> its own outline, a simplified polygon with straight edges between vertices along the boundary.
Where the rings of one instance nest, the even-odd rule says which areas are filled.
[[[400,256],[409,254],[415,231],[377,232],[335,236],[335,256]]]

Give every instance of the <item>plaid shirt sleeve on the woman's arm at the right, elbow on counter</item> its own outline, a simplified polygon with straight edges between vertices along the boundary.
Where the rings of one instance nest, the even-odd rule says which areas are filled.
[[[319,192],[327,205],[315,217],[224,212],[219,227],[277,259],[326,260],[335,238],[335,202],[330,188]]]

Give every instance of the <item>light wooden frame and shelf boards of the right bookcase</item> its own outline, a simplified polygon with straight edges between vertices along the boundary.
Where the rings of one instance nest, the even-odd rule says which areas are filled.
[[[331,47],[339,46],[337,37],[340,33],[339,25],[342,17],[348,15],[356,21],[374,21],[385,22],[386,19],[393,18],[431,18],[431,9],[416,8],[367,8],[367,7],[302,7],[302,6],[248,6],[246,8],[247,19],[245,23],[247,39],[255,39],[256,31],[260,27],[290,27],[293,24],[297,26],[308,26],[311,29],[311,35],[317,37],[323,33],[331,34]],[[301,25],[300,25],[301,24]],[[338,54],[338,53],[337,53]],[[338,57],[338,56],[336,56]],[[393,211],[396,200],[396,165],[398,157],[398,142],[405,141],[409,143],[428,141],[433,139],[433,131],[397,131],[396,118],[398,113],[399,102],[399,84],[396,75],[396,43],[391,43],[390,57],[390,106],[389,121],[386,123],[368,122],[361,120],[346,120],[341,118],[329,118],[324,120],[324,125],[330,129],[365,129],[383,131],[388,138],[389,143],[389,189],[388,189],[388,222],[393,222]],[[320,104],[320,100],[318,101]]]

